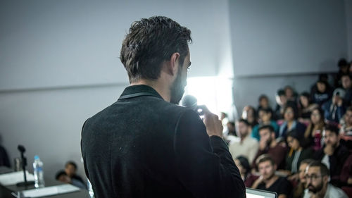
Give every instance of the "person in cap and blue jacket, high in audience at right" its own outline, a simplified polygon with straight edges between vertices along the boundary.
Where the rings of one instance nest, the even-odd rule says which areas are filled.
[[[346,112],[346,106],[344,106],[345,94],[344,89],[337,88],[332,93],[332,99],[322,105],[324,117],[329,122],[339,123],[339,120],[344,116]]]

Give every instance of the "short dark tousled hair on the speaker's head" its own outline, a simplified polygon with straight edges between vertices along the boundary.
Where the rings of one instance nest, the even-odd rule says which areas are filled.
[[[122,42],[120,59],[130,82],[157,80],[163,61],[180,54],[180,66],[187,56],[191,31],[163,16],[142,18],[132,23]]]

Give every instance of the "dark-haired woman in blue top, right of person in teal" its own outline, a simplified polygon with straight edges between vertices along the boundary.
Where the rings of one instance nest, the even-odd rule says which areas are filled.
[[[306,125],[298,122],[298,112],[295,106],[287,104],[284,108],[284,123],[279,128],[279,140],[285,140],[287,132],[296,130],[302,134],[306,131]]]

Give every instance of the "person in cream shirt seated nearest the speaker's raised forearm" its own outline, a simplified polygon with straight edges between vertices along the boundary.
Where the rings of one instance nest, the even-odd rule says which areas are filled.
[[[249,135],[249,123],[247,120],[241,119],[237,121],[237,135],[239,138],[233,141],[229,146],[232,158],[237,156],[245,156],[249,163],[252,163],[258,151],[258,142]]]

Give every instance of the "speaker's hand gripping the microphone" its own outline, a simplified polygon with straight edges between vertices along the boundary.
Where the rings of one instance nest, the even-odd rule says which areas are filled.
[[[206,133],[208,133],[209,136],[216,135],[222,137],[223,127],[219,117],[214,113],[211,113],[209,109],[204,105],[199,106],[199,109],[203,111],[203,123],[206,125]]]

